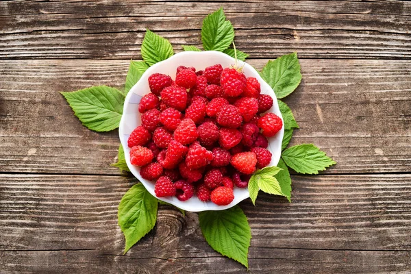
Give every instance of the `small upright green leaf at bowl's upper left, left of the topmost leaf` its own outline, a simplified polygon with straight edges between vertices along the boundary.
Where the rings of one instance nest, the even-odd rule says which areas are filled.
[[[141,55],[142,59],[145,60],[149,66],[166,60],[173,56],[173,54],[173,47],[169,40],[147,29],[144,39],[142,40]]]

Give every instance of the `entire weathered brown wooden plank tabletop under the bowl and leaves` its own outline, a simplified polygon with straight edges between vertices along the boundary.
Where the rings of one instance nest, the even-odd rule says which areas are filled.
[[[110,166],[118,134],[82,126],[59,93],[121,88],[146,27],[175,52],[201,46],[221,5],[256,68],[298,52],[291,145],[338,162],[292,175],[292,203],[240,203],[250,273],[411,272],[411,3],[376,0],[1,1],[1,273],[246,273],[169,206],[123,256],[117,206],[136,180]]]

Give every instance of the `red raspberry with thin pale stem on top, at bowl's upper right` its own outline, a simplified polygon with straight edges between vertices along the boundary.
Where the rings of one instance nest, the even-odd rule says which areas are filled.
[[[225,97],[238,97],[244,92],[247,85],[247,79],[244,73],[236,69],[225,68],[221,73],[221,87],[224,90]]]

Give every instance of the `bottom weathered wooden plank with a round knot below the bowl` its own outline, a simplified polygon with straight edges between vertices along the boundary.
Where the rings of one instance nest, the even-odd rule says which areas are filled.
[[[264,194],[256,208],[249,200],[240,203],[253,235],[251,271],[386,273],[410,268],[411,175],[292,176],[292,182],[292,203]],[[117,206],[134,183],[120,176],[0,175],[0,268],[245,270],[212,251],[197,214],[183,216],[171,206],[160,206],[154,231],[121,256]]]

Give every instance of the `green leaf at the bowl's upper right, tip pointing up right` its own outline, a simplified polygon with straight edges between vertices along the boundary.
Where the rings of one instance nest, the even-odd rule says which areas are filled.
[[[301,82],[297,53],[270,60],[262,69],[262,77],[273,88],[277,99],[290,95]]]

